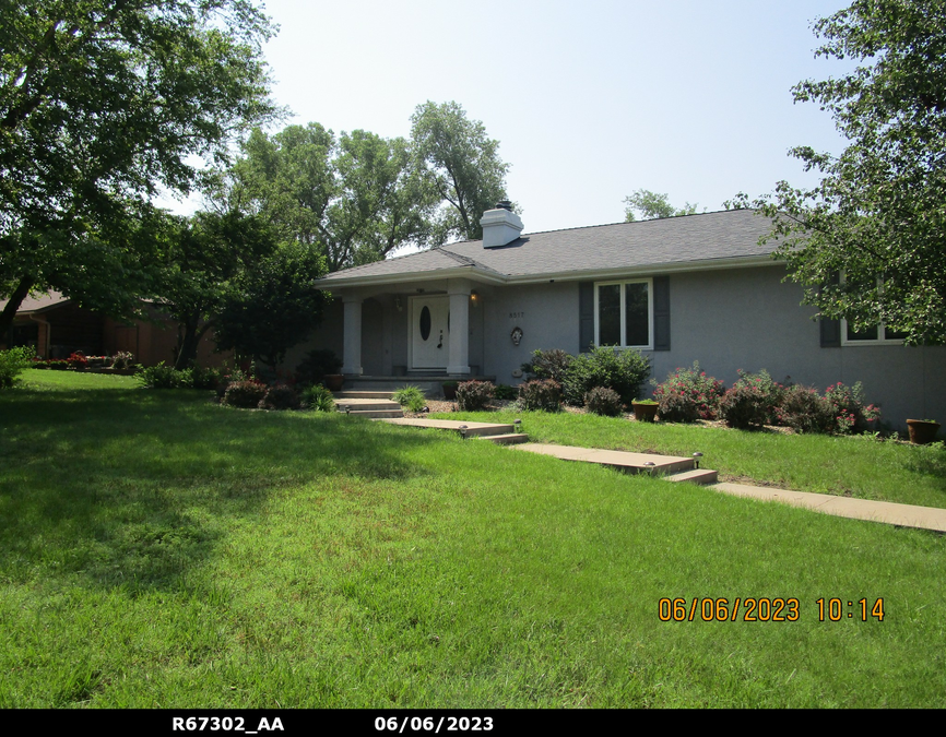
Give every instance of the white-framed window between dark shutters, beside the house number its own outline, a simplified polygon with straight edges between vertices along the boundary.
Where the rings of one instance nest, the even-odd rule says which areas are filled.
[[[623,348],[653,349],[652,280],[594,285],[594,342]]]

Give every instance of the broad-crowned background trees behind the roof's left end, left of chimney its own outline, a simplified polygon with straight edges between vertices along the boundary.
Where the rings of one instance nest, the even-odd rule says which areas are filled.
[[[315,248],[329,271],[383,259],[426,238],[435,206],[406,141],[318,123],[256,130],[217,201],[258,213],[283,241]]]

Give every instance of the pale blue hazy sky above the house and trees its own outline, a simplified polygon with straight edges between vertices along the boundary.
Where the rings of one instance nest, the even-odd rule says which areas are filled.
[[[410,134],[414,108],[457,100],[500,142],[525,231],[624,219],[645,188],[722,209],[742,190],[816,180],[787,155],[838,152],[827,112],[793,104],[829,0],[270,0],[274,96],[335,133]]]

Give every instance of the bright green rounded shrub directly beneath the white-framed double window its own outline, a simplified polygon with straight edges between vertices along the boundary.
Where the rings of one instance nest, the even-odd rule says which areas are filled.
[[[565,372],[563,390],[568,404],[580,407],[595,387],[613,389],[622,404],[630,404],[650,376],[650,359],[639,350],[598,346],[572,358]]]

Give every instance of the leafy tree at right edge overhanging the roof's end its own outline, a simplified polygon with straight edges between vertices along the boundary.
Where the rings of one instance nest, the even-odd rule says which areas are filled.
[[[797,147],[814,189],[777,186],[757,206],[805,299],[855,330],[946,342],[946,2],[856,0],[818,21],[816,56],[861,62],[805,81],[796,100],[831,112],[839,156]],[[838,280],[838,275],[841,278]]]

